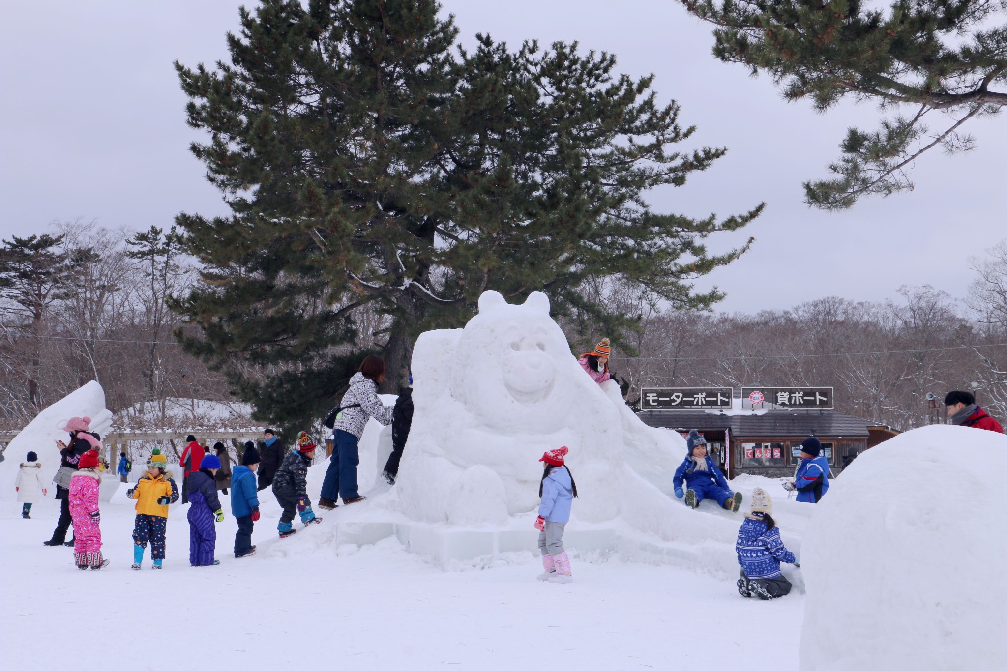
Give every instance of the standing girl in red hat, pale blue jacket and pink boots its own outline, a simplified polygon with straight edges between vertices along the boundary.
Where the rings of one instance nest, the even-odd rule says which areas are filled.
[[[563,446],[542,455],[542,482],[539,483],[539,517],[535,528],[539,530],[539,551],[545,572],[540,580],[550,582],[570,582],[570,557],[563,549],[563,530],[570,521],[570,507],[577,497],[577,485],[570,469],[563,463],[570,450]]]

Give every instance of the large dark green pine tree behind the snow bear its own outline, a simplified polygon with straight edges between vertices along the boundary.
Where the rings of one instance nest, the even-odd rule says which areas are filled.
[[[177,304],[200,329],[184,341],[264,418],[293,426],[331,401],[359,357],[340,347],[363,308],[387,316],[392,390],[416,335],[460,325],[485,289],[545,290],[617,334],[632,316],[599,314],[587,279],[705,307],[721,295],[690,280],[744,249],[711,255],[703,239],[761,205],[718,220],[645,202],[725,151],[671,151],[693,129],[651,77],[576,44],[455,50],[438,9],[265,0],[242,10],[230,63],[176,63],[189,124],[210,135],[192,150],[232,210],[177,217],[204,267]]]

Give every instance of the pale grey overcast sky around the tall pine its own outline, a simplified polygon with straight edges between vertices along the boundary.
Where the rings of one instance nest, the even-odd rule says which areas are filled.
[[[47,230],[54,219],[109,227],[169,226],[179,211],[219,214],[219,192],[188,152],[185,98],[171,63],[227,56],[238,28],[232,0],[6,2],[0,21],[0,234]],[[248,6],[255,3],[246,2]],[[819,115],[784,103],[766,77],[710,55],[709,26],[673,0],[443,0],[463,42],[476,32],[517,46],[578,40],[607,50],[618,69],[655,73],[663,101],[696,125],[690,147],[727,156],[689,184],[653,196],[666,211],[729,214],[766,201],[743,234],[752,249],[700,288],[728,294],[720,309],[787,308],[824,296],[895,298],[931,284],[965,296],[969,258],[1007,237],[1007,118],[971,126],[978,149],[925,155],[915,191],[865,199],[852,210],[809,209],[801,183],[825,176],[853,124],[872,129],[873,107]]]

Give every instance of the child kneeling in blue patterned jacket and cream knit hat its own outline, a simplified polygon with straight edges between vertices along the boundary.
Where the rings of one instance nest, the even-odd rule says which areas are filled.
[[[751,512],[745,513],[734,545],[741,564],[738,594],[763,600],[786,596],[790,593],[790,581],[783,577],[779,562],[801,564],[794,552],[783,546],[779,528],[771,516],[772,499],[760,487],[752,490],[749,509]]]

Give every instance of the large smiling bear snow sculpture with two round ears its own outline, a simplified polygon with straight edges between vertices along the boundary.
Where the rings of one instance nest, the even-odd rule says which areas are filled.
[[[614,382],[584,374],[545,294],[510,305],[485,292],[464,329],[419,337],[412,369],[416,411],[395,490],[413,519],[499,525],[530,513],[538,460],[561,445],[580,491],[575,518],[621,515],[660,532],[674,516],[668,494],[684,441],[644,426]]]

